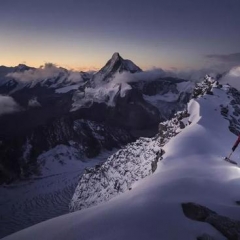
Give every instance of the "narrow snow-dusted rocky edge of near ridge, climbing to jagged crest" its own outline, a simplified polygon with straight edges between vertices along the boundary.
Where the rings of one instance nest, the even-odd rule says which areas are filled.
[[[193,97],[202,100],[207,94],[214,98],[214,93],[216,95],[219,91],[225,98],[229,95],[228,86],[219,85],[213,78],[206,76],[202,83],[196,85]],[[206,120],[201,120],[204,109],[201,109],[201,104],[195,99],[189,102],[187,110],[160,123],[156,137],[140,138],[109,157],[103,165],[87,170],[73,195],[70,210],[76,211],[108,201],[131,189],[139,179],[152,174],[155,171],[153,166],[157,166],[163,154],[162,147],[190,124]],[[218,110],[221,111],[220,104]]]

